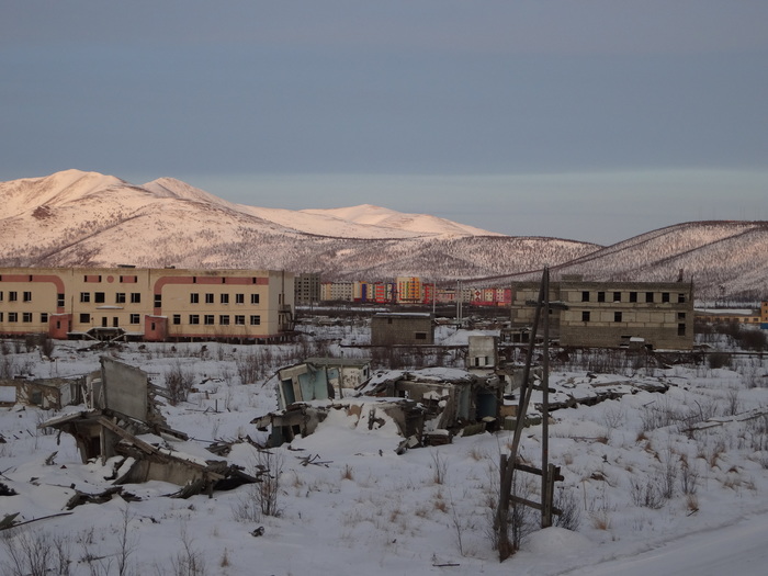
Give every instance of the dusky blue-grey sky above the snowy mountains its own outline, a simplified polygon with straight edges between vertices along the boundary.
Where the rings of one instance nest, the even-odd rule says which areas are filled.
[[[768,219],[765,0],[5,2],[0,181],[613,244]]]

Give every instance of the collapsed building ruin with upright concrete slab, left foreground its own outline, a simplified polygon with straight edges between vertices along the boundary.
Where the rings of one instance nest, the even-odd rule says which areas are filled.
[[[83,463],[100,459],[102,464],[122,456],[115,465],[115,484],[169,482],[212,490],[236,475],[250,482],[225,461],[187,442],[183,432],[168,427],[155,397],[162,391],[146,372],[109,357],[101,370],[86,379],[86,410],[39,425],[71,434]]]

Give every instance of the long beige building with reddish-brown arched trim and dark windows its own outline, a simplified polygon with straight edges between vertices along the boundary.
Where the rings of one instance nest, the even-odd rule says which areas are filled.
[[[293,329],[282,271],[0,268],[0,335],[279,341]]]

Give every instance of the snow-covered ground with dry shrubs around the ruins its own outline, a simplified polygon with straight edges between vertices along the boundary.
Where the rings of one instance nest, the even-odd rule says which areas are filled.
[[[329,329],[339,330],[335,341],[350,338],[343,327]],[[465,337],[440,336],[451,343]],[[0,366],[10,363],[38,377],[97,370],[99,354],[77,346],[57,342],[53,360],[7,346]],[[179,368],[193,373],[196,392],[162,411],[173,428],[205,445],[215,439],[263,441],[266,432],[249,422],[276,407],[267,377],[274,365],[307,351],[306,345],[207,343],[205,352],[200,345],[127,345],[106,353],[160,385]],[[345,349],[347,357],[354,353],[361,352]],[[242,383],[250,358],[262,370]],[[768,411],[767,365],[766,359],[739,357],[733,370],[635,365],[589,377],[573,361],[553,364],[550,384],[561,394],[595,384],[670,387],[553,413],[549,456],[565,478],[556,485],[556,505],[569,511],[572,530],[539,530],[538,516],[528,511],[520,519],[521,549],[504,563],[489,533],[499,454],[508,451],[511,432],[397,455],[400,438],[392,422],[369,430],[339,411],[314,434],[271,451],[269,465],[280,483],[274,516],[255,508],[258,485],[189,499],[170,498],[178,489],[171,484],[127,485],[138,501],[115,496],[2,531],[0,573],[16,574],[13,558],[26,557],[27,550],[34,557],[46,550],[53,573],[71,575],[765,574],[768,416],[760,414]],[[75,489],[95,494],[112,486],[105,477],[115,462],[82,464],[70,436],[37,430],[59,414],[0,409],[0,484],[18,493],[0,496],[0,521],[15,512],[16,521],[67,512]],[[46,464],[54,452],[54,463]],[[521,454],[535,465],[540,452],[541,428],[532,427]],[[249,442],[235,443],[227,456],[247,471],[263,459]],[[522,473],[519,478],[519,489],[535,500],[537,483]],[[260,527],[263,533],[253,535]],[[58,557],[69,562],[54,566]]]

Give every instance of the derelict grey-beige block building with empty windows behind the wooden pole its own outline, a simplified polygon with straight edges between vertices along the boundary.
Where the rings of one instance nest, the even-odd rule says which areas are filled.
[[[513,327],[530,326],[539,283],[512,289]],[[550,283],[550,336],[569,347],[693,347],[693,285],[686,282],[585,282],[565,276]]]

